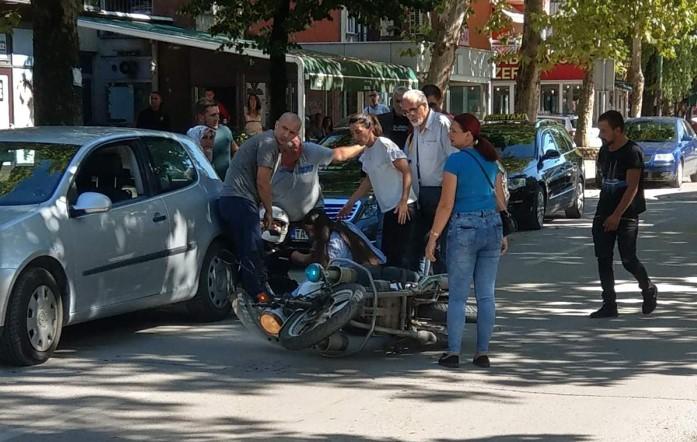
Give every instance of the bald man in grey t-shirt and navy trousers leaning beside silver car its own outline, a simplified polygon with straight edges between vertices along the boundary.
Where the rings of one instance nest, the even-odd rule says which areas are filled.
[[[273,130],[255,135],[240,146],[225,174],[220,217],[235,241],[244,289],[258,301],[268,299],[259,204],[266,209],[264,228],[268,228],[273,221],[272,177],[281,153],[297,149],[294,144],[299,145],[301,124],[296,114],[283,114]]]

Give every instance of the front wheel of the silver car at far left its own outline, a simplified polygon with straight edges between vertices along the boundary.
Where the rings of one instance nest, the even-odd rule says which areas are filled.
[[[0,358],[20,366],[44,363],[62,329],[63,302],[55,278],[42,267],[25,270],[10,295]]]

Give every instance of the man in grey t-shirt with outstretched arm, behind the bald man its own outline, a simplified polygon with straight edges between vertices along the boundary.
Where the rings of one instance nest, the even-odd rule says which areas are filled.
[[[364,146],[329,149],[315,143],[302,143],[297,150],[281,154],[281,163],[273,176],[273,204],[285,210],[291,222],[303,219],[310,210],[322,205],[319,168],[357,157]]]

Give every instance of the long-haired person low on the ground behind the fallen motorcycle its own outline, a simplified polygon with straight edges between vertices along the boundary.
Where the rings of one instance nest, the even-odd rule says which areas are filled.
[[[293,251],[290,259],[295,264],[326,266],[338,258],[350,259],[367,267],[385,263],[385,255],[358,227],[346,221],[332,221],[322,209],[312,209],[303,219],[303,227],[312,240],[312,251]]]

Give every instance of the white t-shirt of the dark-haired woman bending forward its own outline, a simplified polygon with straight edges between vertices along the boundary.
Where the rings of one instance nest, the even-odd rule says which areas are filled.
[[[397,207],[402,199],[402,172],[394,167],[394,161],[406,159],[406,154],[389,138],[379,137],[366,148],[359,158],[363,171],[370,178],[373,193],[380,210],[385,213]],[[412,177],[413,178],[413,177]],[[409,203],[416,201],[414,191],[409,189]]]

